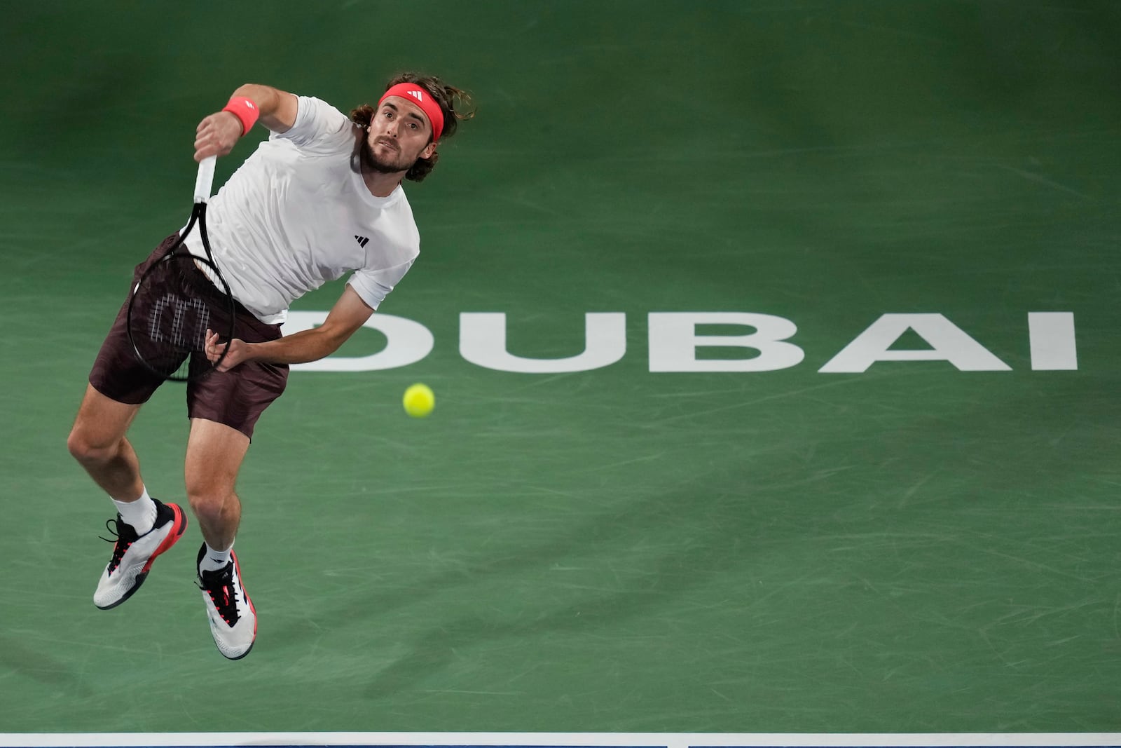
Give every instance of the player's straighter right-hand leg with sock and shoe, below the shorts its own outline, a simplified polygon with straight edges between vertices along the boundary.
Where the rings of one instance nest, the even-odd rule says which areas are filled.
[[[249,437],[224,424],[191,419],[185,473],[187,499],[203,538],[196,567],[198,588],[219,652],[230,659],[249,654],[257,637],[257,611],[241,584],[233,539],[241,524],[241,500],[234,492]]]

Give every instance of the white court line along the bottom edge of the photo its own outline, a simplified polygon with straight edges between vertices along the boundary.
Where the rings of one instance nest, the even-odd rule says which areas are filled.
[[[62,746],[634,746],[871,748],[1111,746],[1121,732],[11,732],[0,748]]]

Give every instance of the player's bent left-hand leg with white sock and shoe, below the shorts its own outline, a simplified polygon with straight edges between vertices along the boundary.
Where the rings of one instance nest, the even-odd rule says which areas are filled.
[[[105,397],[87,386],[66,445],[118,508],[113,553],[98,581],[93,602],[114,608],[140,589],[152,562],[183,536],[187,519],[174,504],[148,496],[140,478],[140,461],[124,437],[139,405]],[[106,538],[109,539],[109,538]]]

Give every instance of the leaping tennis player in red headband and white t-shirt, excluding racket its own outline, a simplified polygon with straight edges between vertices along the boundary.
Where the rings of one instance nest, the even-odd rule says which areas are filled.
[[[187,384],[191,431],[185,460],[187,501],[204,543],[197,584],[219,652],[249,654],[257,613],[233,552],[241,520],[234,482],[261,413],[284,393],[288,364],[330,355],[370,317],[420,249],[402,179],[420,182],[438,146],[473,112],[470,96],[437,77],[393,77],[377,107],[348,118],[330,104],[247,84],[200,122],[195,160],[224,156],[254,122],[268,140],[245,159],[207,207],[214,260],[238,302],[238,339],[209,377]],[[168,237],[145,262],[174,246]],[[197,237],[185,246],[203,255]],[[328,280],[351,276],[323,325],[281,336],[289,304]],[[149,493],[126,438],[140,406],[163,379],[141,366],[128,341],[126,310],[113,323],[90,373],[71,431],[71,454],[112,499],[113,553],[94,592],[102,609],[139,589],[157,556],[187,525],[179,506]],[[207,334],[206,354],[220,341]]]

